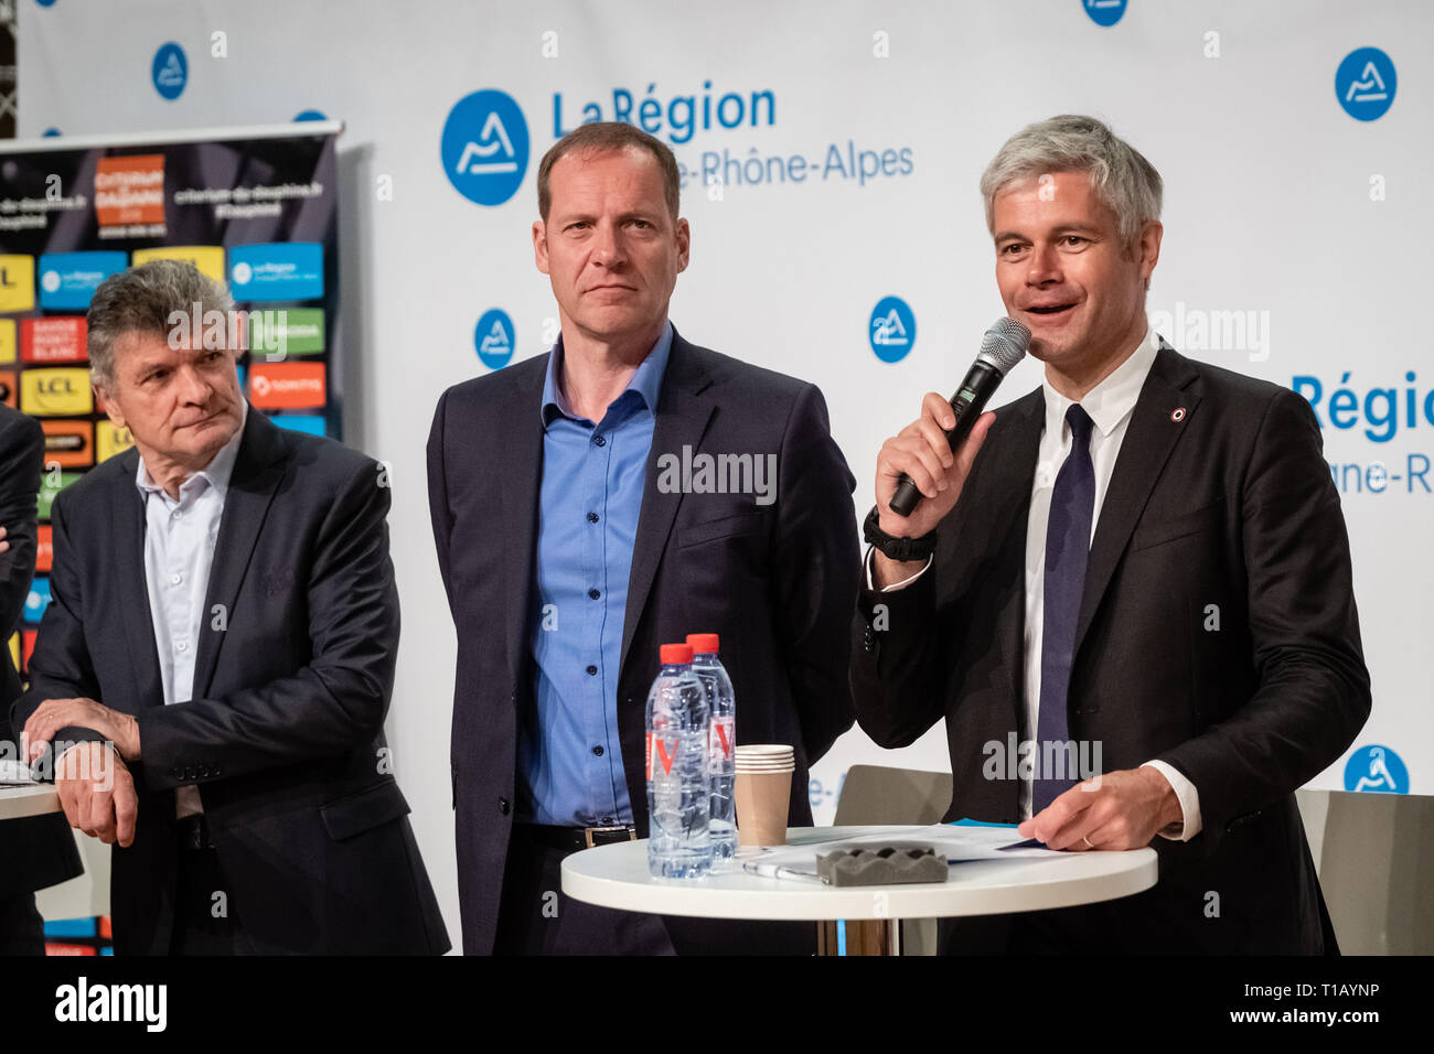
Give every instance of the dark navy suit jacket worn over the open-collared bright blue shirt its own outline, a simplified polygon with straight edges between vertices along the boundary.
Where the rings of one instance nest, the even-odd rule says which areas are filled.
[[[518,714],[535,706],[528,632],[546,369],[542,354],[449,389],[429,437],[433,535],[459,644],[452,761],[466,954],[493,948],[513,822]],[[684,446],[777,455],[776,502],[663,493],[658,457],[681,456]],[[736,690],[737,741],[793,744],[790,823],[812,823],[807,767],[852,726],[853,486],[815,386],[695,347],[674,331],[632,546],[617,695],[640,833],[647,830],[647,691],[658,645],[708,631],[721,635]],[[683,924],[668,921],[670,934],[674,925]],[[675,935],[674,944],[684,951]]]

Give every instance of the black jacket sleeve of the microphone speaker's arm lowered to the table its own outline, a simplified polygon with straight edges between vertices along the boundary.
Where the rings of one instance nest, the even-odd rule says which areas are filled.
[[[1266,409],[1242,513],[1259,688],[1159,756],[1199,789],[1212,837],[1334,763],[1371,704],[1339,496],[1315,416],[1292,391]]]

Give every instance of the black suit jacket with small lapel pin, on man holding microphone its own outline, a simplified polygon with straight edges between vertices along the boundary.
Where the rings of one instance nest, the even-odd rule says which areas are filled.
[[[985,779],[982,747],[1030,734],[1024,561],[1043,423],[1040,390],[997,412],[935,566],[905,589],[863,591],[855,619],[862,728],[899,747],[946,718],[948,819],[1020,819],[1020,783]],[[873,604],[888,630],[870,628]],[[1067,932],[1108,951],[1324,951],[1293,790],[1354,740],[1369,675],[1308,403],[1162,347],[1100,509],[1077,627],[1071,739],[1100,741],[1104,771],[1174,766],[1203,830],[1153,839],[1159,885],[1073,911],[1087,925]]]

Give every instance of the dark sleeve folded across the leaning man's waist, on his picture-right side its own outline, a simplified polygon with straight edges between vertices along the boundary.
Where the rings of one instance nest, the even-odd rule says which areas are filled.
[[[290,677],[224,698],[143,708],[139,741],[151,787],[194,783],[191,767],[202,784],[205,769],[228,779],[379,736],[393,688],[399,597],[384,522],[390,495],[373,465],[347,480],[318,532],[307,584],[313,658]]]

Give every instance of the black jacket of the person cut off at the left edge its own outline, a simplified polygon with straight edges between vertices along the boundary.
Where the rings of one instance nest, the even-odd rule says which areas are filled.
[[[20,730],[10,728],[10,704],[20,677],[10,658],[10,634],[20,622],[34,572],[36,498],[44,460],[44,430],[33,417],[0,406],[0,526],[10,548],[0,554],[0,743],[3,757],[20,757]],[[75,836],[65,816],[27,816],[0,822],[0,901],[53,886],[83,873]]]

